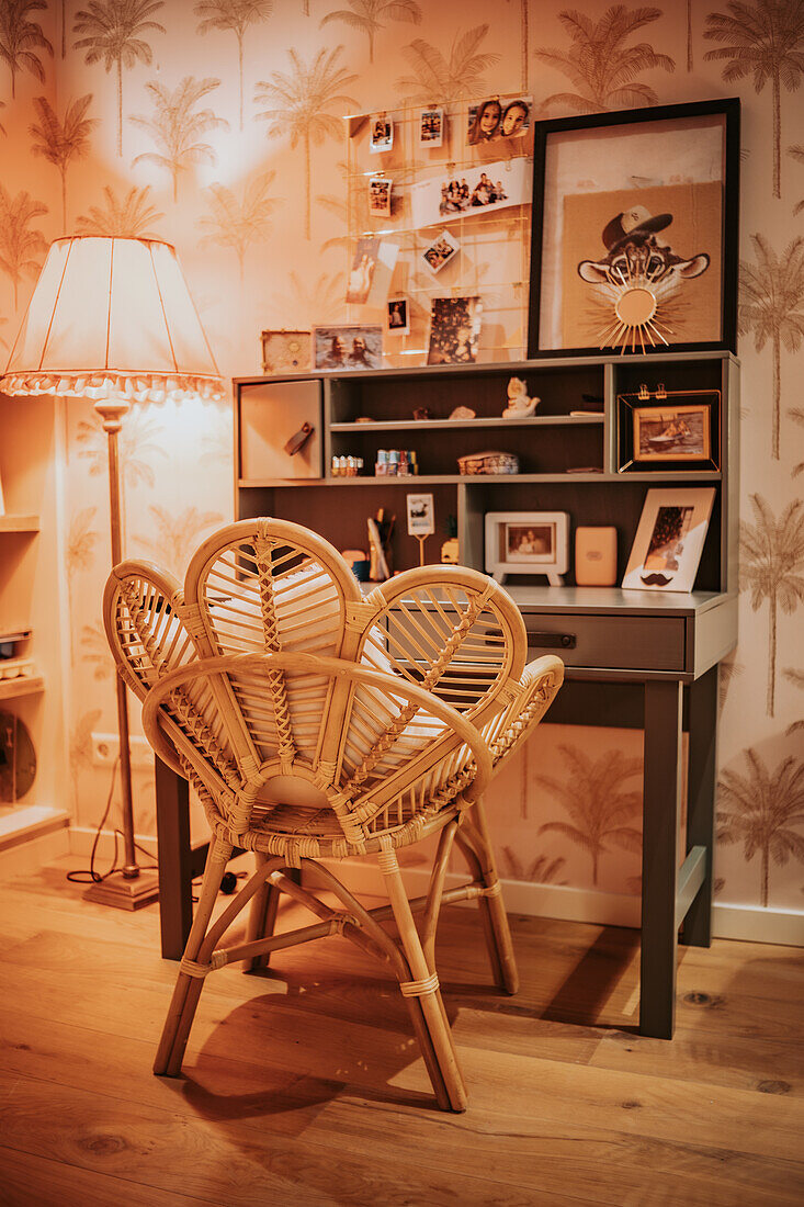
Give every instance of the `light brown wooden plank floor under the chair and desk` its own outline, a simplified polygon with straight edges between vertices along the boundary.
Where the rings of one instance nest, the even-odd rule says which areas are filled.
[[[684,951],[664,1043],[634,1031],[634,932],[514,917],[506,998],[476,912],[447,909],[466,1114],[435,1108],[401,998],[339,938],[212,974],[159,1080],[157,909],[83,902],[75,862],[0,885],[4,1207],[804,1202],[800,951]]]

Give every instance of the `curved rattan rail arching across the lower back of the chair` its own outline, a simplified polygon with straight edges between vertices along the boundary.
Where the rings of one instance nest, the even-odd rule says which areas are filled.
[[[161,718],[170,717],[169,706],[167,707],[167,713],[163,711],[163,706],[168,705],[168,698],[171,693],[188,684],[197,683],[199,680],[210,680],[217,675],[243,676],[268,671],[327,676],[332,681],[345,681],[350,686],[365,684],[394,699],[401,698],[415,705],[416,710],[424,710],[431,717],[441,721],[445,727],[443,737],[439,737],[438,742],[435,744],[436,748],[449,741],[450,736],[453,739],[449,741],[451,751],[461,746],[468,748],[471,758],[476,764],[476,774],[466,791],[467,799],[474,799],[474,797],[485,791],[491,777],[491,751],[477,727],[471,721],[467,721],[456,709],[453,709],[449,704],[444,704],[443,700],[438,699],[431,692],[418,687],[415,683],[397,678],[395,675],[386,675],[383,671],[375,671],[372,667],[342,658],[326,658],[319,654],[228,654],[225,657],[204,658],[197,663],[176,667],[161,678],[145,699],[142,706],[142,728],[148,741],[157,750],[163,745]],[[229,718],[229,723],[231,721],[232,718]],[[183,745],[190,756],[190,742],[185,741]],[[445,753],[438,748],[438,760]]]

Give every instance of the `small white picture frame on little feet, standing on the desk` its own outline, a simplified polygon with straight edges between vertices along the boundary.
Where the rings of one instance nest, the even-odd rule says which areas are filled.
[[[561,587],[570,561],[567,512],[487,512],[485,568],[499,583],[507,575],[547,575]]]

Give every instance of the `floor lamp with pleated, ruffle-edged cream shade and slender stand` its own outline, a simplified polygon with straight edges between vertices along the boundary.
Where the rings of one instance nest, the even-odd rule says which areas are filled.
[[[109,442],[112,565],[122,561],[117,436],[133,402],[222,400],[222,379],[175,249],[157,239],[57,239],[47,255],[0,391],[92,398]],[[136,864],[126,684],[116,677],[124,867],[86,896],[121,909],[155,900]]]

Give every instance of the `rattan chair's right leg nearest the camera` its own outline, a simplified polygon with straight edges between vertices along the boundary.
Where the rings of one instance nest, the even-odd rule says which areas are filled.
[[[427,964],[419,932],[413,920],[408,894],[402,884],[398,861],[394,851],[383,851],[378,857],[378,863],[385,876],[385,885],[391,909],[394,910],[394,919],[400,932],[402,950],[404,951],[410,975],[413,976],[413,982],[408,982],[408,985],[415,985],[416,982],[421,985],[418,992],[410,993],[408,991],[406,993],[403,984],[402,993],[406,997],[415,996],[419,998],[425,1026],[432,1042],[433,1054],[447,1089],[450,1108],[453,1110],[466,1110],[466,1086],[458,1063],[458,1054],[453,1043],[453,1034],[441,997],[441,990],[438,989],[438,979],[435,976],[435,973],[431,973]],[[433,979],[435,986],[430,987],[427,982]]]

